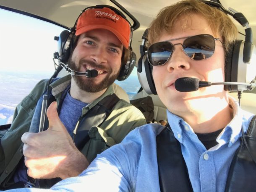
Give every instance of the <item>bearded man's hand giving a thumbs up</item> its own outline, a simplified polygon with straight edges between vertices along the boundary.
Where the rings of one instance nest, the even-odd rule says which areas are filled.
[[[56,108],[54,101],[47,109],[49,128],[46,131],[26,132],[21,137],[27,173],[35,179],[65,179],[77,176],[89,166],[60,121]]]

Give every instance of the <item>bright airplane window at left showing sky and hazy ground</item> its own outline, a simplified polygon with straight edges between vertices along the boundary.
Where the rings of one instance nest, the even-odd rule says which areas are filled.
[[[16,105],[55,71],[52,61],[64,29],[29,16],[0,10],[0,125],[10,124]]]

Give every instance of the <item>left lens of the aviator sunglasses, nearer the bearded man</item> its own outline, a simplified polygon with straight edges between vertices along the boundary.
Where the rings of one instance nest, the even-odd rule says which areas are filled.
[[[147,52],[149,63],[153,66],[164,65],[172,54],[172,49],[169,42],[152,44]]]

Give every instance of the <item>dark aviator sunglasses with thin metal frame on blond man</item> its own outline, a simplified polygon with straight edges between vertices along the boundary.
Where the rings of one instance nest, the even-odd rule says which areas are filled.
[[[185,39],[183,44],[172,44],[170,41]],[[205,60],[211,57],[215,49],[215,41],[220,40],[209,34],[170,39],[152,44],[146,51],[150,65],[164,65],[172,56],[175,45],[182,45],[185,54],[192,60]]]

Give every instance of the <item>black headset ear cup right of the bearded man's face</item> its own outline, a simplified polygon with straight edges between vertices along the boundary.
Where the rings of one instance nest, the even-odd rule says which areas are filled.
[[[132,50],[130,48],[130,50]],[[118,75],[118,80],[125,80],[129,77],[129,75],[131,74],[131,72],[133,71],[133,68],[136,64],[136,54],[133,51],[130,51],[128,53],[128,59],[126,63],[121,63],[121,69],[120,69],[120,73]]]

